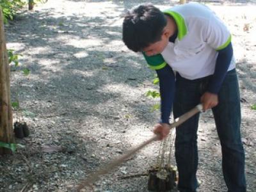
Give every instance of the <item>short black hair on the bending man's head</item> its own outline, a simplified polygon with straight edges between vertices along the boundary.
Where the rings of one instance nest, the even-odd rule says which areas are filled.
[[[151,4],[140,4],[126,13],[123,22],[124,44],[134,52],[142,51],[161,40],[167,20],[164,13]]]

